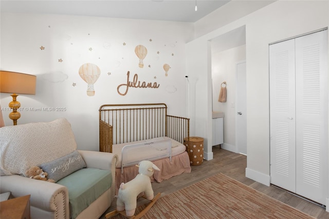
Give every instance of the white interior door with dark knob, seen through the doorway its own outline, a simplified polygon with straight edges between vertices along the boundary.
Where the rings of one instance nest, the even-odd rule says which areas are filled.
[[[246,61],[236,64],[236,125],[237,153],[247,155]]]

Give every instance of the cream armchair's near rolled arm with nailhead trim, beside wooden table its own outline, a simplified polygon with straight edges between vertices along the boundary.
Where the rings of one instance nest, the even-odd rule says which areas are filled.
[[[62,185],[21,175],[1,176],[0,181],[1,193],[11,192],[13,197],[31,195],[31,206],[44,211],[57,211],[63,216],[69,214],[68,191]]]

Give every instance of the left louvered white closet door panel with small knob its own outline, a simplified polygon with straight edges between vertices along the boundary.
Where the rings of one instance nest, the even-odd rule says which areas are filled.
[[[270,181],[296,189],[295,40],[269,46]]]

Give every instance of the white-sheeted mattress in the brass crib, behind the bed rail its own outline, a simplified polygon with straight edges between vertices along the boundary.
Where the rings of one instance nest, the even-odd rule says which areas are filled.
[[[140,141],[133,141],[133,142],[126,142],[126,143],[121,143],[121,144],[113,144],[112,147],[112,153],[117,154],[119,157],[118,160],[118,165],[117,168],[121,168],[121,152],[122,152],[122,148],[126,145],[130,145],[130,144],[137,144],[137,143],[147,143],[147,142],[151,142],[151,141],[161,141],[161,140],[167,140],[167,139],[171,139],[169,137],[163,136],[163,137],[158,137],[158,138],[152,138],[152,139],[145,139],[145,140],[140,140]],[[183,152],[186,151],[186,146],[178,141],[175,141],[174,139],[171,139],[171,156],[176,156],[178,154],[181,154]],[[150,156],[154,156],[154,151],[150,152]],[[140,157],[140,158],[145,158],[145,160],[147,160],[148,156],[148,151],[139,151],[136,153],[136,151],[134,152],[133,155],[134,159],[136,159],[136,157]],[[125,161],[129,161],[129,160],[125,160]]]

